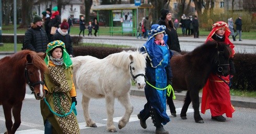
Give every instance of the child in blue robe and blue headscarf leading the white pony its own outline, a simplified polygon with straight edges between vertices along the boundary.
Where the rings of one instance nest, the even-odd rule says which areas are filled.
[[[172,84],[170,66],[172,52],[166,44],[168,36],[165,33],[165,29],[165,25],[153,24],[148,32],[148,41],[141,48],[142,52],[147,53],[146,76],[148,82],[157,88],[165,88],[167,85]],[[151,116],[154,126],[156,126],[156,133],[169,133],[162,126],[170,122],[170,118],[166,113],[166,89],[157,90],[147,84],[145,86],[145,95],[147,103],[138,114],[142,128],[147,128],[146,119]]]

